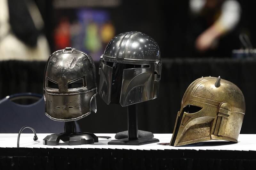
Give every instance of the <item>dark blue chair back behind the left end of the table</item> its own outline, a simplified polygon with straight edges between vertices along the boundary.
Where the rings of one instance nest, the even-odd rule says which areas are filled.
[[[17,104],[18,99],[37,99],[29,105]],[[23,126],[31,126],[36,133],[60,133],[64,122],[53,121],[44,114],[44,97],[33,93],[19,93],[0,100],[0,133],[19,133]],[[31,133],[29,129],[25,133]]]

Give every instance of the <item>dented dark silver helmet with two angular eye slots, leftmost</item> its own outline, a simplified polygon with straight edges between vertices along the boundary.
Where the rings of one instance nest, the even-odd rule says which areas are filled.
[[[95,80],[91,56],[75,48],[52,53],[44,72],[45,114],[56,121],[74,121],[96,113]]]

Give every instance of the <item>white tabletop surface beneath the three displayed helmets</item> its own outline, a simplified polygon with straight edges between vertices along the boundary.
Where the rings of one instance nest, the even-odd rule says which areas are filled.
[[[114,140],[115,134],[95,134],[96,136],[110,136],[111,139],[99,138],[99,142],[94,144],[85,145],[61,145],[61,146],[48,146],[43,145],[43,138],[49,134],[37,134],[38,140],[33,141],[34,134],[22,133],[20,136],[20,147],[28,148],[105,148],[105,149],[132,149],[132,150],[164,150],[164,149],[193,149],[193,150],[236,150],[236,151],[256,151],[256,134],[240,134],[238,143],[219,145],[220,141],[216,142],[216,145],[211,146],[182,146],[173,147],[160,145],[159,143],[169,143],[172,134],[154,134],[155,138],[160,142],[153,144],[145,144],[140,146],[134,145],[108,145],[108,141]],[[18,134],[0,134],[0,147],[17,147]],[[215,143],[214,143],[215,144]]]

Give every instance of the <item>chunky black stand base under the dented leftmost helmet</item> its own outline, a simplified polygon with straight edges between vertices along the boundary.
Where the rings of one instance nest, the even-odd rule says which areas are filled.
[[[98,137],[93,133],[78,132],[78,133],[55,133],[48,135],[43,139],[44,145],[81,145],[93,144],[98,142]]]

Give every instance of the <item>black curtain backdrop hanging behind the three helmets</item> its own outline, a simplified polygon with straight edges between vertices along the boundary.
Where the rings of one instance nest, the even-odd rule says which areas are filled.
[[[212,76],[235,83],[244,93],[246,113],[241,133],[256,133],[253,128],[256,95],[256,60],[234,59],[163,59],[159,96],[140,103],[139,129],[153,133],[172,133],[180,102],[188,85],[202,76]],[[96,65],[99,83],[98,63]],[[0,62],[0,97],[20,92],[43,93],[45,62]],[[116,133],[127,130],[127,109],[107,105],[97,96],[98,110],[78,121],[83,131]],[[1,121],[7,121],[1,118]],[[253,123],[254,122],[254,123]]]

